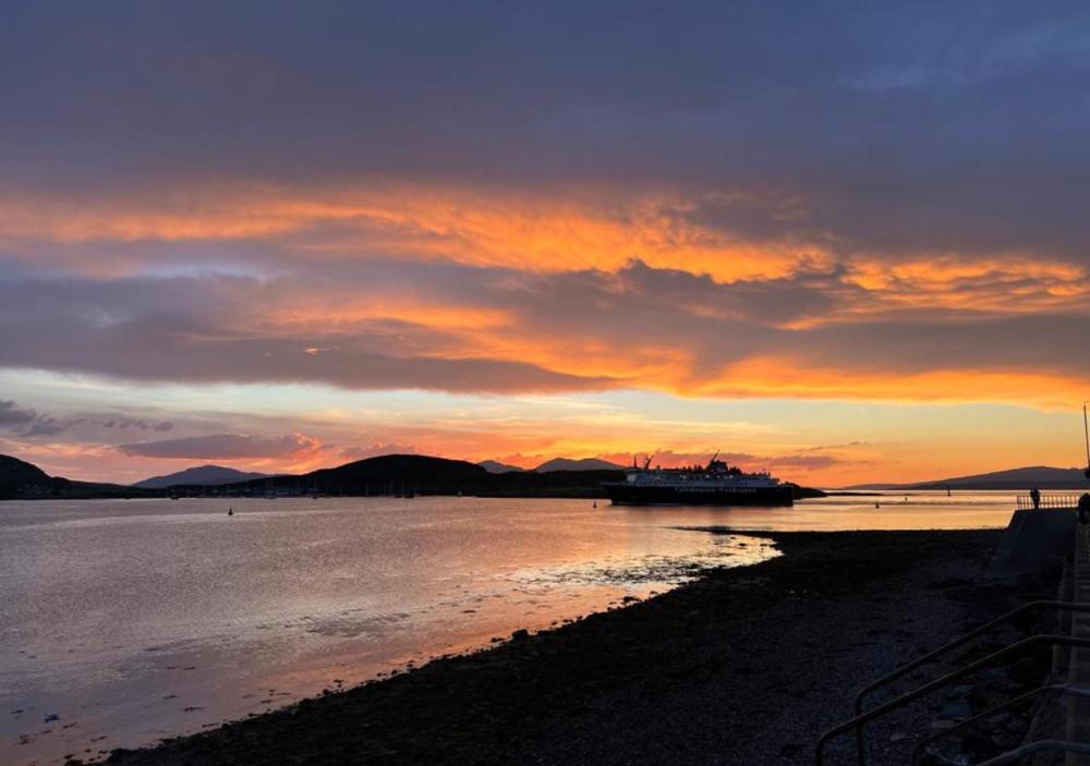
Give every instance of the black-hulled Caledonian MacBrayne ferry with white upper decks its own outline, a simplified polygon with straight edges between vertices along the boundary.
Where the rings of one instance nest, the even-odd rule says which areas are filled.
[[[615,506],[794,506],[790,484],[765,472],[744,473],[717,460],[694,469],[643,467],[627,472],[623,482],[603,482],[602,488]]]

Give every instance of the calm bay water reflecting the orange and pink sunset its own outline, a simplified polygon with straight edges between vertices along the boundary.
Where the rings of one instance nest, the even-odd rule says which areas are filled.
[[[0,503],[0,763],[196,731],[668,589],[706,567],[776,555],[760,538],[677,527],[1002,526],[1013,506],[995,493],[834,497],[794,509],[477,498]]]

